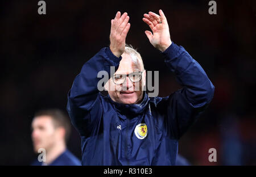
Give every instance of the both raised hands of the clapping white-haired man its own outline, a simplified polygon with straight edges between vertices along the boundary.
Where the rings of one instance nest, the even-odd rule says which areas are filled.
[[[156,49],[164,52],[172,44],[172,41],[166,16],[162,10],[159,10],[159,14],[150,11],[143,15],[142,20],[152,31],[145,31],[150,43]],[[117,57],[120,57],[125,51],[125,40],[131,26],[129,18],[126,12],[121,15],[121,12],[118,11],[115,18],[111,20],[110,50]]]

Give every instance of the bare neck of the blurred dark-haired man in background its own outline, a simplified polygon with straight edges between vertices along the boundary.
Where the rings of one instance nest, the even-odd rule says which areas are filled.
[[[46,150],[46,163],[48,165],[51,164],[57,157],[60,156],[60,154],[64,153],[65,150],[65,142],[57,141],[55,145]]]

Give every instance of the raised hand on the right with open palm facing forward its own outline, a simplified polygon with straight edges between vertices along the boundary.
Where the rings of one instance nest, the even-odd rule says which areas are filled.
[[[154,12],[148,12],[144,14],[143,22],[147,23],[153,34],[150,31],[145,31],[150,43],[161,52],[164,52],[171,44],[171,37],[169,26],[166,16],[162,10],[159,10],[159,14]]]

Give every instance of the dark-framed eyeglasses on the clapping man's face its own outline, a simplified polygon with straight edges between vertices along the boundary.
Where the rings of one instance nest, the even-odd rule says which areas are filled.
[[[143,71],[138,71],[130,74],[115,74],[113,75],[113,82],[116,85],[120,85],[125,82],[126,77],[128,76],[131,82],[139,82],[141,81]]]

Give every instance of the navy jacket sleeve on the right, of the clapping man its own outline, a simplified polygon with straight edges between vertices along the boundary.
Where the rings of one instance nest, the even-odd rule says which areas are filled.
[[[166,98],[168,134],[179,139],[212,100],[214,86],[183,47],[172,43],[163,55],[167,67],[183,86]]]

